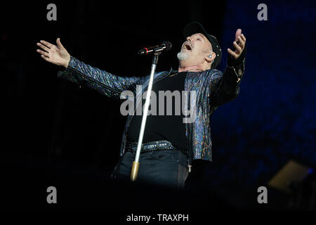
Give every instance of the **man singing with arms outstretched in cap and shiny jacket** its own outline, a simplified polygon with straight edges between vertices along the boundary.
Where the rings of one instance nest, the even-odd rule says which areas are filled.
[[[188,24],[183,34],[186,41],[178,53],[178,71],[157,72],[152,91],[157,96],[159,91],[195,91],[195,120],[183,122],[184,116],[174,113],[176,101],[172,102],[171,115],[164,113],[170,110],[168,105],[160,109],[163,111],[162,115],[147,115],[137,178],[137,181],[174,188],[185,186],[192,160],[212,160],[210,117],[219,105],[228,103],[239,95],[246,56],[246,37],[238,29],[233,41],[235,51],[228,49],[225,72],[220,72],[216,67],[220,63],[222,52],[216,37],[208,34],[199,23]],[[37,46],[41,50],[37,49],[37,52],[44,60],[63,68],[58,72],[58,77],[77,84],[84,83],[101,94],[116,99],[123,98],[124,91],[131,91],[133,96],[137,96],[139,86],[142,94],[147,90],[150,76],[112,75],[70,56],[59,38],[56,44],[57,46],[40,41]],[[140,101],[143,101],[141,105],[145,102],[136,97],[132,100],[135,109]],[[132,113],[127,116],[120,159],[114,168],[112,179],[129,180],[141,120],[142,115]]]

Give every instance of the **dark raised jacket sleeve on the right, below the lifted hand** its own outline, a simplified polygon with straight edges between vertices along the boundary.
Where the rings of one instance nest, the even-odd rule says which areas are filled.
[[[239,96],[240,83],[244,77],[246,47],[235,60],[228,56],[228,63],[223,73],[215,73],[211,77],[211,106],[218,107]]]

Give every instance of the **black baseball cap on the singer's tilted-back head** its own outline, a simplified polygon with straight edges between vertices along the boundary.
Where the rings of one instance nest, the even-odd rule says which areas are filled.
[[[183,36],[185,37],[185,39],[191,36],[192,34],[197,33],[204,34],[204,36],[209,40],[209,42],[211,42],[213,52],[216,53],[216,57],[213,61],[211,69],[215,69],[220,64],[220,59],[222,58],[222,49],[220,49],[218,40],[213,35],[208,34],[204,27],[197,22],[189,23],[185,26],[185,29],[183,30]]]

